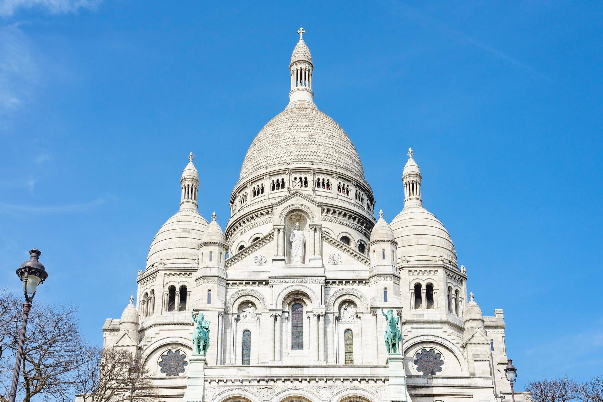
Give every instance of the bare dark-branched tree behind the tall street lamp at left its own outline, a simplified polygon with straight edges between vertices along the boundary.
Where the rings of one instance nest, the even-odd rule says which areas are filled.
[[[75,369],[90,359],[90,347],[84,342],[72,306],[34,304],[27,322],[24,339],[21,380],[17,388],[19,399],[30,402],[71,400]],[[21,313],[4,331],[11,353],[2,356],[2,394],[10,389],[14,355],[21,333]],[[13,320],[14,321],[14,320]],[[0,396],[0,401],[6,398]]]

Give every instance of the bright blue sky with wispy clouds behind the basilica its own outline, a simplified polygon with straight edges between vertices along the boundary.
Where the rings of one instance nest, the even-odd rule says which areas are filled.
[[[119,318],[195,154],[224,228],[248,146],[288,101],[300,24],[318,107],[355,143],[376,209],[412,146],[519,388],[603,374],[600,2],[0,0],[0,284],[32,247],[36,299]]]

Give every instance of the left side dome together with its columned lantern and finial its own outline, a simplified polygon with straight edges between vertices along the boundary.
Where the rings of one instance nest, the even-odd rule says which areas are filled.
[[[192,265],[198,259],[198,246],[207,221],[197,210],[199,174],[192,160],[191,152],[180,179],[180,210],[155,235],[147,256],[147,269]]]

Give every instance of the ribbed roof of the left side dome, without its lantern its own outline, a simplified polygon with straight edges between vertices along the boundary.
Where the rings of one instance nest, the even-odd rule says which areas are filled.
[[[151,243],[147,268],[163,260],[165,266],[192,264],[199,256],[199,243],[207,221],[196,209],[183,208],[168,219]]]

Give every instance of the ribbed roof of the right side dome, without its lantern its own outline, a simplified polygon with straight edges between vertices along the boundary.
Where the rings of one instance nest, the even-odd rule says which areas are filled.
[[[450,234],[434,214],[423,206],[404,207],[390,226],[398,242],[397,254],[408,258],[409,262],[434,262],[443,256],[456,263],[456,251]]]

